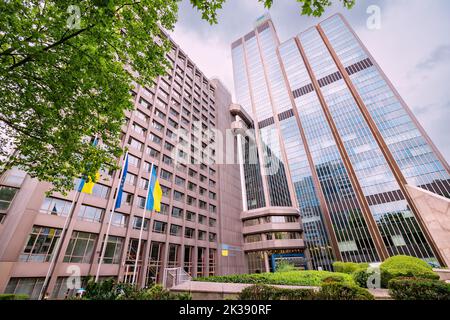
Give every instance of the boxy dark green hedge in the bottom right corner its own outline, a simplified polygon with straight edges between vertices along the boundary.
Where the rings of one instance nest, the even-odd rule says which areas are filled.
[[[396,300],[450,300],[450,284],[439,280],[397,278],[388,288]]]

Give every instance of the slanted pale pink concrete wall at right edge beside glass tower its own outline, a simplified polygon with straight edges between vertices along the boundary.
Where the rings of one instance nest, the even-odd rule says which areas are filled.
[[[420,216],[446,266],[450,266],[450,199],[430,191],[407,185]]]

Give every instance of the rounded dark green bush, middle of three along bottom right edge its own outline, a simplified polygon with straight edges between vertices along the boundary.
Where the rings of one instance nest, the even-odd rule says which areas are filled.
[[[366,289],[356,285],[330,282],[322,285],[318,294],[320,300],[374,300],[374,296]]]

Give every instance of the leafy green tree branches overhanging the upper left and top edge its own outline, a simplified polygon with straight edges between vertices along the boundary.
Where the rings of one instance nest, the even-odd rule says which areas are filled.
[[[190,1],[211,24],[225,2]],[[315,16],[331,4],[297,1]],[[132,83],[165,74],[162,29],[173,29],[177,10],[178,0],[2,1],[0,174],[18,166],[65,192],[80,175],[116,167]],[[87,139],[94,136],[101,147]]]

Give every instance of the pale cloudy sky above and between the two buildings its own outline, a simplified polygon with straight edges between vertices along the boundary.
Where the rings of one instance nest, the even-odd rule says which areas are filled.
[[[450,161],[450,1],[356,0],[351,10],[333,3],[315,18],[301,16],[295,0],[274,0],[269,13],[280,41],[342,13]],[[380,29],[367,27],[371,5],[380,8]],[[211,26],[183,0],[171,36],[206,76],[219,78],[234,94],[230,45],[265,12],[257,0],[227,0]]]

